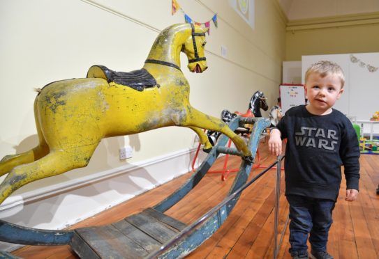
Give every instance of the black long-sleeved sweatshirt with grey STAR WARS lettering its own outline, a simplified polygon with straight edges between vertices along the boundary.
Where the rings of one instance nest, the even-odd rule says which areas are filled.
[[[285,195],[336,201],[344,166],[347,189],[359,190],[359,143],[340,111],[317,116],[305,105],[292,107],[276,126],[285,148]]]

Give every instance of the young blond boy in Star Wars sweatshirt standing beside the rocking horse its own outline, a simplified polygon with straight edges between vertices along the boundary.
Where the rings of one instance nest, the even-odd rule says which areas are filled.
[[[332,109],[343,93],[343,71],[320,61],[306,71],[309,104],[292,107],[270,132],[269,152],[285,148],[285,196],[290,204],[290,253],[293,258],[333,258],[327,253],[332,210],[339,195],[341,165],[346,179],[345,201],[355,201],[359,182],[359,145],[352,124]]]

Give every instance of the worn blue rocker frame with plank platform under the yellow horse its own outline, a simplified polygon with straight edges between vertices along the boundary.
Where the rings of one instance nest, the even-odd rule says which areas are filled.
[[[230,122],[229,127],[235,131],[245,124],[254,125],[248,148],[255,158],[261,133],[266,127],[269,127],[270,123],[266,118],[237,117]],[[164,212],[198,185],[209,168],[216,162],[218,155],[228,153],[242,156],[236,149],[225,148],[227,142],[228,137],[222,135],[198,170],[184,185],[181,185],[165,200],[139,214],[133,214],[107,226],[66,231],[24,228],[0,221],[0,241],[31,245],[70,244],[81,258],[107,258],[110,256],[114,258],[184,257],[211,237],[228,218],[239,199],[241,188],[246,188],[244,184],[253,164],[241,159],[239,172],[223,203],[214,207],[193,224],[186,226],[177,219],[165,215]],[[260,175],[255,178],[258,179]]]

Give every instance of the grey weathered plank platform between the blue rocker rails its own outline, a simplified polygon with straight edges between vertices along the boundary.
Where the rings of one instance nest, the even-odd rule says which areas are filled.
[[[107,226],[77,228],[70,245],[80,258],[145,258],[184,228],[148,208]]]

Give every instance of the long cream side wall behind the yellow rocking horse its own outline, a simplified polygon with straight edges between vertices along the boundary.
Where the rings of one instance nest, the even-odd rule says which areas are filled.
[[[218,13],[218,29],[211,24],[207,36],[209,69],[192,74],[182,56],[181,67],[191,84],[191,104],[219,117],[223,109],[246,111],[251,95],[262,90],[274,105],[285,56],[285,23],[276,0],[255,0],[254,30],[227,0],[178,2],[199,22]],[[171,0],[0,1],[0,158],[37,143],[33,88],[84,77],[94,64],[119,71],[141,68],[158,31],[184,22],[181,12],[171,16],[170,7]],[[227,58],[221,57],[221,45],[228,47]],[[87,168],[20,191],[191,148],[193,139],[191,130],[178,127],[104,139]],[[128,144],[135,155],[120,162],[119,147]]]

